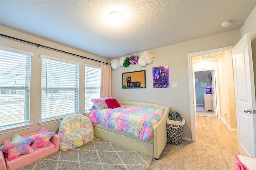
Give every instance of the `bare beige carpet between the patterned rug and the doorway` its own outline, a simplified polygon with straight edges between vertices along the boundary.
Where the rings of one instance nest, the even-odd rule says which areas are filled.
[[[182,140],[180,146],[167,143],[150,170],[235,170],[237,150]]]

